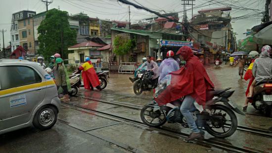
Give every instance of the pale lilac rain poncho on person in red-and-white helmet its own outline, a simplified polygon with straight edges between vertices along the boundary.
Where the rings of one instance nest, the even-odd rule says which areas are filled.
[[[180,69],[180,65],[175,59],[171,57],[164,59],[159,67],[159,73],[160,73],[159,83],[162,80],[162,78],[164,78],[167,74],[173,71],[177,71],[179,69]]]

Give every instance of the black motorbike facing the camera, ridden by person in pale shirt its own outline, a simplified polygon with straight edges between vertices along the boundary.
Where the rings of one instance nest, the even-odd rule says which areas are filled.
[[[140,95],[143,91],[151,91],[155,89],[158,84],[158,78],[152,80],[149,78],[152,71],[138,70],[136,81],[133,84],[133,91],[136,95]]]

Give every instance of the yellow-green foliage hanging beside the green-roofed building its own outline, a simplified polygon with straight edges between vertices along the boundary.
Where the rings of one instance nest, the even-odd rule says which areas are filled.
[[[114,40],[114,52],[117,55],[127,54],[129,51],[132,51],[136,47],[136,38],[132,40],[122,39],[119,36],[115,37]]]

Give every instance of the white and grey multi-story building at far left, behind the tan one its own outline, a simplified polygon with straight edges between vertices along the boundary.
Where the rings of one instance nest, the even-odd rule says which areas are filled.
[[[12,14],[10,27],[11,51],[14,51],[20,45],[18,20],[31,17],[35,14],[35,11],[30,10],[22,10]]]

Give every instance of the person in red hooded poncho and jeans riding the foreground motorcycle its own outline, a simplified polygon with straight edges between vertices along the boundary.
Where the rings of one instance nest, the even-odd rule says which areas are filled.
[[[196,126],[190,110],[195,108],[194,102],[205,107],[206,91],[213,90],[214,85],[210,80],[203,64],[198,57],[193,55],[192,50],[183,46],[176,53],[186,64],[178,71],[172,72],[171,84],[157,97],[155,101],[159,105],[180,99],[185,96],[181,104],[181,113],[185,117],[192,133],[186,140],[202,138],[200,130]]]

